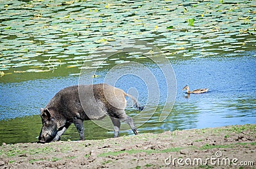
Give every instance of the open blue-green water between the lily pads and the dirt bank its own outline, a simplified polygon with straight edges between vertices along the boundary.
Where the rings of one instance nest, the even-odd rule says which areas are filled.
[[[174,129],[208,128],[231,124],[247,124],[256,122],[255,93],[256,60],[253,53],[244,53],[241,57],[223,57],[222,59],[191,59],[176,61],[172,64],[177,77],[177,97],[172,112],[168,118],[159,122],[161,114],[161,102],[155,114],[140,126],[144,117],[135,121],[140,133],[159,133]],[[255,54],[254,54],[255,55]],[[188,73],[189,72],[189,73]],[[102,74],[100,74],[102,73]],[[104,71],[98,75],[104,77]],[[196,75],[196,76],[195,76]],[[101,78],[96,82],[102,82]],[[128,82],[133,82],[134,77],[120,78],[118,87],[124,87],[127,91],[130,87]],[[39,108],[44,107],[49,99],[63,87],[75,85],[77,76],[60,78],[46,78],[17,83],[1,83],[1,121],[0,143],[35,142],[42,127]],[[204,94],[191,94],[186,98],[186,93],[181,91],[184,85],[189,84],[193,88],[202,86],[209,88]],[[131,83],[132,85],[132,83]],[[126,87],[125,87],[126,86]],[[141,103],[147,92],[143,84],[138,85]],[[164,89],[164,88],[163,88]],[[163,92],[163,91],[161,91]],[[164,96],[164,95],[163,95]],[[134,117],[136,110],[127,107],[127,114]],[[145,114],[145,116],[148,116]],[[107,131],[93,122],[84,122],[87,139],[109,138],[113,131]],[[129,129],[126,124],[122,129]],[[122,131],[120,135],[132,135],[131,129]],[[78,140],[79,135],[74,125],[63,135],[62,140]]]

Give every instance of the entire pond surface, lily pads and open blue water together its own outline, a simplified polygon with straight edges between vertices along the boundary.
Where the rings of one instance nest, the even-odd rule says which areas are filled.
[[[177,79],[170,115],[159,122],[164,106],[160,98],[159,108],[145,124],[136,119],[140,133],[255,123],[255,5],[255,1],[1,1],[0,145],[35,142],[42,128],[39,109],[63,87],[78,84],[84,66],[89,72],[99,68],[97,83],[104,82],[116,64],[140,62],[159,77],[161,93],[166,92],[161,73],[138,52],[121,53],[112,62],[104,62],[99,54],[122,52],[127,46],[143,48],[130,43],[132,39],[163,51]],[[145,85],[134,81],[122,77],[116,87],[125,92],[136,88],[141,105],[148,104]],[[209,92],[187,96],[181,91],[185,85],[207,87]],[[131,117],[138,113],[131,107],[126,110]],[[113,136],[90,121],[84,128],[86,139]],[[68,139],[79,139],[74,125],[61,138]]]

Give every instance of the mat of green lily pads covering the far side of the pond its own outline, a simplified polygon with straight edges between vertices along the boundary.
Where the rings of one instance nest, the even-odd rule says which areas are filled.
[[[255,45],[253,1],[136,1],[129,5],[98,0],[0,1],[0,6],[0,71],[4,77],[14,71],[56,70],[61,65],[77,69],[83,61],[90,65],[86,68],[93,68],[95,59],[104,59],[104,55],[92,55],[94,50],[140,48],[134,43],[120,43],[124,39],[148,41],[168,58],[177,59],[183,55],[197,57],[203,48],[209,52],[203,54],[211,57],[212,53],[252,50]],[[232,45],[237,42],[241,44]],[[193,52],[188,54],[189,50]],[[136,54],[128,57],[143,59]]]

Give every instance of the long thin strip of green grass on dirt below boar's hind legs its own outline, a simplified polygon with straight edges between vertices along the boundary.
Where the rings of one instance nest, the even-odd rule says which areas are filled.
[[[118,156],[119,154],[122,153],[128,153],[128,154],[137,154],[140,152],[146,152],[147,154],[151,154],[151,153],[164,153],[164,152],[178,152],[181,149],[184,149],[186,147],[172,147],[170,149],[164,149],[164,150],[135,150],[135,149],[131,149],[131,150],[125,150],[125,151],[111,151],[111,152],[105,152],[102,154],[99,154],[98,157],[106,157],[106,156]]]

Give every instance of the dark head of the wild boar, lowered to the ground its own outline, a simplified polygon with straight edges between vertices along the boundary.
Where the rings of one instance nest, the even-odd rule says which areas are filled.
[[[60,129],[60,119],[54,118],[54,115],[47,108],[41,108],[41,118],[43,127],[41,129],[38,140],[40,143],[49,143],[52,140],[56,141],[55,136]],[[54,139],[55,138],[55,139]],[[60,138],[58,138],[59,140]]]

